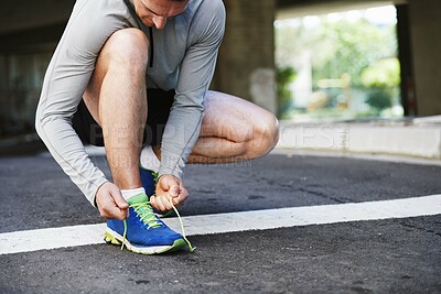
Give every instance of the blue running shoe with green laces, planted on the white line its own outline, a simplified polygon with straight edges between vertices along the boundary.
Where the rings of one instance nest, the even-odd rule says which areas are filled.
[[[170,229],[154,215],[146,194],[132,196],[127,202],[129,217],[107,221],[107,243],[122,244],[141,254],[158,254],[187,247],[182,235]]]

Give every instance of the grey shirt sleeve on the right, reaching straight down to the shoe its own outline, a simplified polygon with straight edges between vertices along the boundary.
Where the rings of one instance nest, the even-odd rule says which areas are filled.
[[[159,176],[183,176],[186,160],[200,135],[203,101],[225,32],[225,8],[220,0],[203,1],[194,18],[162,139]]]

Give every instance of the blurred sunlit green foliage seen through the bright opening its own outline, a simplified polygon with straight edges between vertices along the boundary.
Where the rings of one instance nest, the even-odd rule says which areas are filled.
[[[327,102],[321,106],[322,109],[309,110],[312,117],[313,112],[320,112],[323,117],[326,113],[329,117],[340,113],[345,118],[380,116],[381,110],[396,105],[399,101],[400,84],[397,47],[396,25],[392,23],[378,25],[364,18],[355,21],[344,18],[331,21],[326,15],[276,23],[276,62],[279,67],[293,66],[297,70],[303,66],[299,59],[310,56],[312,91],[325,91],[329,96]],[[347,106],[331,111],[336,107],[332,101],[337,97],[331,95],[333,88],[319,87],[319,80],[342,80],[345,75],[351,80],[347,97],[351,99],[351,90],[354,89],[358,94],[364,92],[364,102],[368,107],[351,109]],[[278,83],[282,81],[282,78],[280,81],[278,79]],[[283,112],[287,105],[286,101],[279,104],[281,115],[287,116]],[[294,112],[297,110],[292,111],[291,108],[291,113]]]

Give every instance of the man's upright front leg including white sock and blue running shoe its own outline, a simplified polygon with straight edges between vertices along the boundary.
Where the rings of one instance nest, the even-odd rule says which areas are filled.
[[[187,247],[180,233],[159,221],[149,205],[139,174],[139,155],[147,120],[146,68],[148,40],[136,29],[114,33],[103,47],[83,97],[103,128],[115,184],[130,205],[121,221],[107,221],[105,240],[142,254]],[[192,247],[189,242],[191,250]]]

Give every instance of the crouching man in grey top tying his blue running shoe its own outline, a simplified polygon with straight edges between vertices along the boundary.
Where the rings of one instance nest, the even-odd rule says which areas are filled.
[[[185,247],[152,210],[185,202],[185,163],[254,159],[276,144],[272,113],[207,90],[224,25],[220,0],[77,0],[35,126],[109,219],[108,242],[144,254]],[[83,143],[105,146],[114,183]]]

